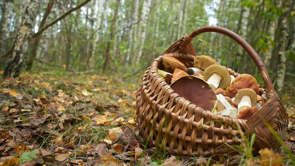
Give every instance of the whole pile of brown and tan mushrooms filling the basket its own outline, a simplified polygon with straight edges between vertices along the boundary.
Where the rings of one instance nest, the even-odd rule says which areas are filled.
[[[235,78],[210,56],[196,56],[192,68],[164,56],[163,66],[158,74],[176,93],[214,114],[248,120],[266,102],[253,76]]]

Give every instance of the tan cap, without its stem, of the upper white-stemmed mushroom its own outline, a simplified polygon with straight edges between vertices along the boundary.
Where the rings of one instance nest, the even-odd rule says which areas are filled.
[[[217,73],[222,76],[222,80],[219,83],[217,88],[225,89],[230,85],[230,74],[221,66],[219,65],[211,65],[207,67],[204,71],[204,79],[208,81],[208,79],[212,76],[213,73]]]

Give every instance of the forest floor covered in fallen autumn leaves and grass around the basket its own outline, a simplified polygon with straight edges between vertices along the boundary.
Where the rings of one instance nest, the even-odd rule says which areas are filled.
[[[1,78],[0,166],[207,164],[204,157],[168,156],[145,147],[135,121],[141,76],[133,80],[121,77],[40,72]],[[284,139],[289,154],[281,148],[242,163],[257,165],[267,156],[273,157],[272,163],[275,158],[291,165],[294,156],[290,152],[295,152],[294,90],[281,99],[289,113]]]

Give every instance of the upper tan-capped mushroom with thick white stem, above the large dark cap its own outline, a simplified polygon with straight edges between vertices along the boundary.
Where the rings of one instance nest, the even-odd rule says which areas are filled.
[[[218,87],[225,89],[230,85],[230,74],[218,65],[207,67],[204,71],[204,78],[213,89]]]

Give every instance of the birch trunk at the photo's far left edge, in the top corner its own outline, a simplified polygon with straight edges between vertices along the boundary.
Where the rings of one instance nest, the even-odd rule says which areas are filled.
[[[11,18],[14,14],[14,1],[13,0],[4,0],[2,2],[2,13],[1,13],[1,24],[0,24],[0,40],[9,37],[9,27],[11,24]],[[0,55],[6,53],[7,42],[3,41],[0,43]]]

